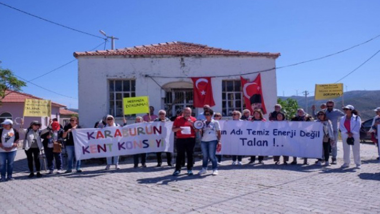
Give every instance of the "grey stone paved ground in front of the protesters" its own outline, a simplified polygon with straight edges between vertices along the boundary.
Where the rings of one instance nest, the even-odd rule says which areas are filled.
[[[339,168],[341,150],[338,165],[328,168],[277,166],[271,159],[265,165],[231,166],[225,160],[219,176],[173,177],[173,168],[155,168],[154,160],[145,169],[133,169],[127,160],[118,171],[93,164],[81,174],[40,179],[26,179],[21,150],[16,180],[0,183],[0,213],[380,213],[380,164],[374,145],[361,145],[359,170]],[[195,172],[200,164],[196,162]]]

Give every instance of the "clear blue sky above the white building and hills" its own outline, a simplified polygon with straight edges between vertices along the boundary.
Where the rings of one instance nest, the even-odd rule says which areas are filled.
[[[119,37],[116,48],[184,41],[241,51],[280,52],[277,66],[343,50],[380,34],[377,0],[268,1],[22,1],[0,0],[51,21],[99,35]],[[74,59],[103,41],[0,5],[0,66],[27,80]],[[104,46],[98,48],[103,50]],[[110,44],[107,44],[110,49]],[[380,38],[320,61],[277,70],[282,96],[314,91],[333,83],[380,49]],[[341,82],[351,90],[379,90],[380,54]],[[34,80],[45,88],[78,97],[78,66],[73,62]],[[24,92],[71,108],[71,99],[29,84]],[[312,93],[311,93],[312,94]]]

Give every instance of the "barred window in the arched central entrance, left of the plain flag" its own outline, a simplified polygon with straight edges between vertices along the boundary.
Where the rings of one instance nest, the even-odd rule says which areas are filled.
[[[166,91],[165,110],[167,117],[176,116],[177,110],[182,110],[185,107],[194,109],[193,89],[171,89]]]

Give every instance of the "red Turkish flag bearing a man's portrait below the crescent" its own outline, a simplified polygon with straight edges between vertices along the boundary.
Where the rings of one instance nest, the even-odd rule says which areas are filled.
[[[253,109],[261,109],[266,114],[263,88],[261,87],[260,73],[252,82],[240,77],[244,96],[245,108],[253,113]]]

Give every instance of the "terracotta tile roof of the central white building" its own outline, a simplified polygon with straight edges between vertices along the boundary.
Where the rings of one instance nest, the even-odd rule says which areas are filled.
[[[188,42],[166,42],[105,51],[74,52],[79,56],[264,56],[276,59],[280,53],[232,51]]]

